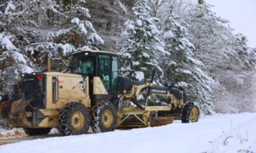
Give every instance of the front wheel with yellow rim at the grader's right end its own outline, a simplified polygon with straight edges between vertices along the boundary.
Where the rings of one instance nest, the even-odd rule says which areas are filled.
[[[181,113],[181,122],[197,122],[200,116],[200,110],[194,103],[186,103]]]

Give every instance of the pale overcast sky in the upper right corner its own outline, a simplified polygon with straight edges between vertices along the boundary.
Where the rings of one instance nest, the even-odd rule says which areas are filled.
[[[243,33],[248,46],[256,48],[256,0],[205,0],[214,5],[212,10],[229,20],[234,33]]]

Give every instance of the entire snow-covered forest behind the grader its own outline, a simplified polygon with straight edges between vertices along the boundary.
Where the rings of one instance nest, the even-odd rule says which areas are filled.
[[[69,54],[118,52],[132,77],[184,87],[205,115],[255,112],[256,48],[202,0],[0,0],[0,92]],[[124,69],[126,67],[124,66]]]

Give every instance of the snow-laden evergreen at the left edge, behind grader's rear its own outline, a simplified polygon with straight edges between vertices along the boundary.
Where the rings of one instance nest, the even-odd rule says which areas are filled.
[[[20,11],[17,1],[0,4],[0,65],[1,91],[12,92],[12,85],[19,79],[20,73],[31,73],[33,64],[26,56],[22,45],[26,38],[22,36],[23,27],[33,24],[24,20],[24,11]],[[8,80],[8,81],[4,81]]]

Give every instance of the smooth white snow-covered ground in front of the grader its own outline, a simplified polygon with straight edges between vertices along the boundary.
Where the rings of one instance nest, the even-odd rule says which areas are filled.
[[[155,128],[55,136],[1,145],[2,153],[256,152],[256,113],[216,114],[199,122]]]

